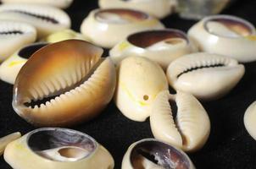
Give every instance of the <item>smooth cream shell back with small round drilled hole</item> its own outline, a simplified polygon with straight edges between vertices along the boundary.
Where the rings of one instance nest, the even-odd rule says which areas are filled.
[[[168,90],[164,71],[145,57],[126,57],[117,70],[114,101],[125,117],[145,121],[151,105],[162,90]]]

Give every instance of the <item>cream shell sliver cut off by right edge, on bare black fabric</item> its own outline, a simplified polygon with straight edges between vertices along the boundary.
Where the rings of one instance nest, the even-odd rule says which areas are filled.
[[[248,133],[256,140],[256,101],[246,110],[243,121]]]

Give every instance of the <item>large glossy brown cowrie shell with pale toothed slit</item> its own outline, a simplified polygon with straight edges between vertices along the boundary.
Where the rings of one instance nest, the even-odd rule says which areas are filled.
[[[114,64],[103,49],[67,40],[45,46],[20,69],[14,111],[37,126],[65,126],[97,116],[111,101]]]

